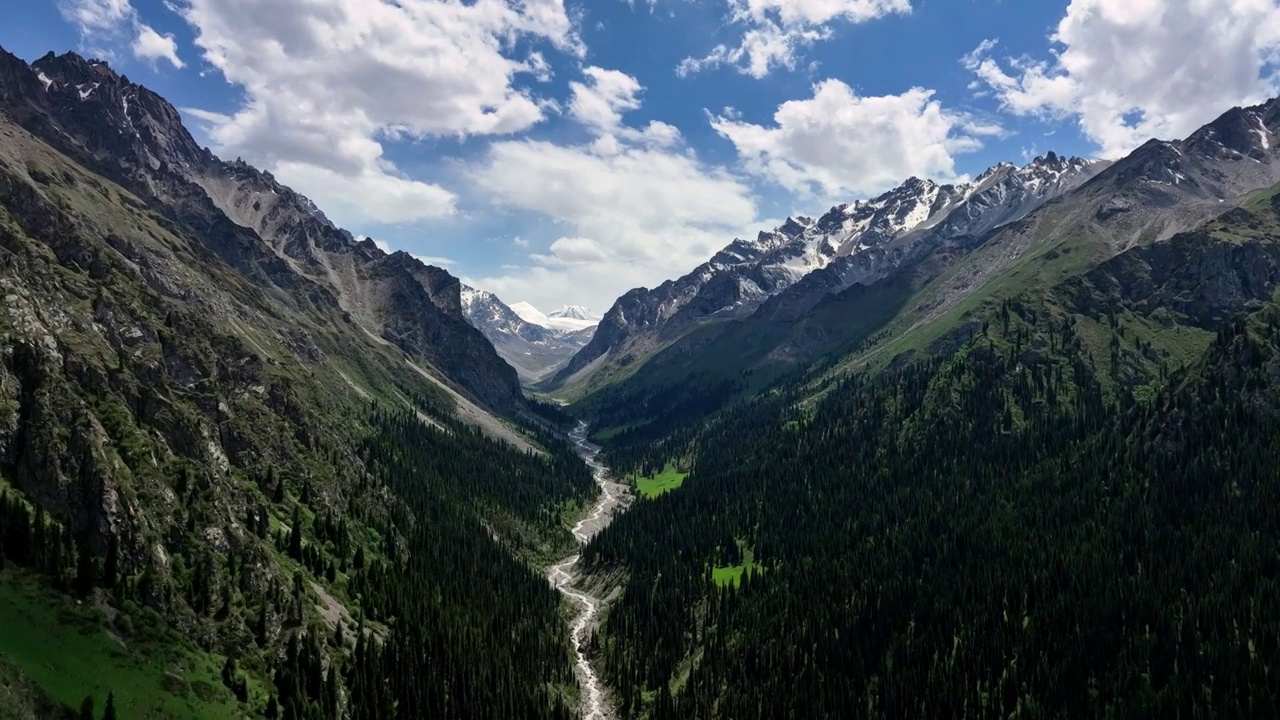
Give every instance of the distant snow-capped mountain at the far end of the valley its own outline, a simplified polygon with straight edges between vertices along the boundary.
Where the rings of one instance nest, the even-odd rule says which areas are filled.
[[[467,320],[526,382],[539,380],[567,363],[595,332],[595,322],[589,318],[543,315],[527,302],[517,304],[517,313],[516,306],[508,307],[483,290],[463,286],[461,299]]]

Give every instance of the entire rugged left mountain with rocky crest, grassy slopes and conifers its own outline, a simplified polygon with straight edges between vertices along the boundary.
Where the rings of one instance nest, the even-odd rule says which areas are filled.
[[[456,278],[0,50],[0,715],[572,716],[595,486]]]

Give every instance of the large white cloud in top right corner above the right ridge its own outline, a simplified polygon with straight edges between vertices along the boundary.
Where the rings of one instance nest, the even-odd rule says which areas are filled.
[[[1051,40],[1052,60],[1000,63],[987,41],[964,61],[1006,110],[1075,118],[1108,158],[1280,91],[1275,0],[1073,0]]]

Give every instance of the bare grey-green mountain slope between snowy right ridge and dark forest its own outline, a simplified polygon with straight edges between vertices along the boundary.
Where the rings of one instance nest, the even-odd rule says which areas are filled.
[[[745,311],[685,328],[668,329],[667,322],[657,332],[620,329],[607,318],[579,356],[608,333],[622,340],[582,373],[590,378],[576,391],[579,411],[605,428],[641,433],[652,424],[644,432],[660,436],[671,418],[705,416],[795,373],[883,368],[955,348],[1012,295],[1047,293],[1275,183],[1277,108],[1271,101],[1233,109],[1185,140],[1151,141],[1110,165],[1057,155],[1027,168],[997,165],[932,227],[826,263]],[[1052,197],[1027,213],[1006,210],[1019,205],[1011,191],[1043,188],[1070,176],[1070,167],[1083,172]],[[631,299],[635,291],[620,307],[626,318],[640,316],[625,305]]]

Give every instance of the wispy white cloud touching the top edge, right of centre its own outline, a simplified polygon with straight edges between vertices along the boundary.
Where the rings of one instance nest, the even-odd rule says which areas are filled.
[[[680,77],[732,65],[763,78],[774,68],[795,69],[799,53],[827,40],[832,23],[864,23],[911,12],[910,0],[727,0],[731,22],[745,27],[736,45],[717,45],[703,58],[685,58]]]

